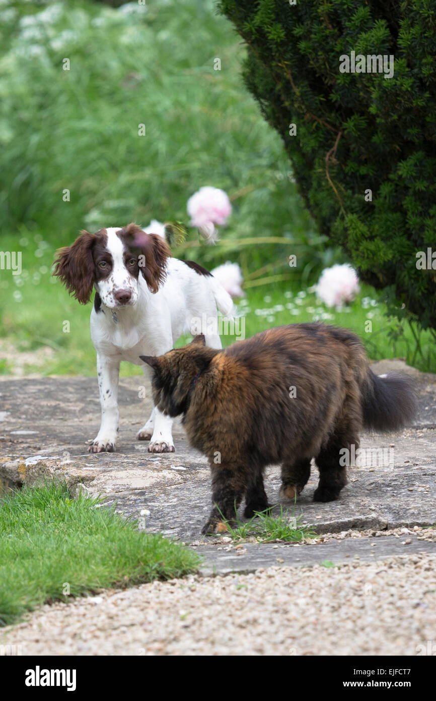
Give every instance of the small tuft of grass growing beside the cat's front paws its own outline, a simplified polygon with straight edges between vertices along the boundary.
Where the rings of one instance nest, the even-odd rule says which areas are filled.
[[[299,524],[302,515],[294,516],[295,507],[292,513],[287,509],[283,512],[280,507],[279,515],[272,515],[269,510],[256,512],[248,521],[241,521],[235,515],[236,526],[232,526],[227,519],[223,519],[227,526],[226,535],[234,541],[255,538],[258,543],[271,543],[274,540],[286,540],[292,543],[300,543],[304,538],[316,538],[313,529]]]

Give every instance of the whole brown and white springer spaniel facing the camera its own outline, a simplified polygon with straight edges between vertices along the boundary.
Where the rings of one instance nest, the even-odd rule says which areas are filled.
[[[89,451],[112,452],[118,435],[120,361],[150,368],[140,355],[163,355],[192,320],[208,320],[206,344],[221,348],[218,315],[228,315],[232,299],[209,271],[192,261],[171,258],[162,236],[136,224],[125,228],[82,231],[73,245],[60,248],[54,275],[80,304],[90,301],[91,339],[97,351],[101,426]],[[208,331],[209,329],[209,331]],[[196,331],[197,332],[197,331]],[[150,440],[151,453],[174,452],[173,419],[153,407],[136,438]]]

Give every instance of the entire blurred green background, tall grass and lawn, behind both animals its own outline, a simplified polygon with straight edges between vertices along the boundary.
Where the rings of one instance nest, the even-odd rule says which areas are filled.
[[[80,229],[189,224],[187,200],[204,185],[229,194],[229,223],[214,246],[190,226],[185,241],[173,231],[174,254],[241,264],[246,336],[321,315],[363,336],[373,358],[436,367],[431,334],[418,346],[405,320],[388,325],[384,305],[364,333],[370,288],[336,315],[297,297],[344,254],[304,207],[281,139],[241,80],[246,50],[211,0],[0,0],[0,42],[0,249],[21,251],[23,268],[0,270],[0,372],[94,374],[90,308],[51,277],[55,249]],[[122,375],[137,372],[122,364]]]

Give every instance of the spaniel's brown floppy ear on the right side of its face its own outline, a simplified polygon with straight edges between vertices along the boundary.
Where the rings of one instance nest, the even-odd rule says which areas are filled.
[[[157,233],[146,233],[136,224],[129,224],[124,229],[127,242],[141,249],[139,254],[139,270],[146,280],[150,292],[157,292],[167,275],[165,268],[171,251],[166,241]]]

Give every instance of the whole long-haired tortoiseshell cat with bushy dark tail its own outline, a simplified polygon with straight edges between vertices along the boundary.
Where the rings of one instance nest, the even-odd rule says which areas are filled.
[[[209,458],[213,509],[203,533],[225,529],[244,496],[246,517],[268,508],[269,464],[281,463],[281,496],[293,499],[315,458],[314,501],[337,499],[346,484],[339,451],[357,450],[363,428],[398,430],[416,412],[408,376],[374,375],[357,336],[318,323],[269,329],[223,351],[200,335],[141,358],[154,369],[156,406],[183,414],[190,443]]]

